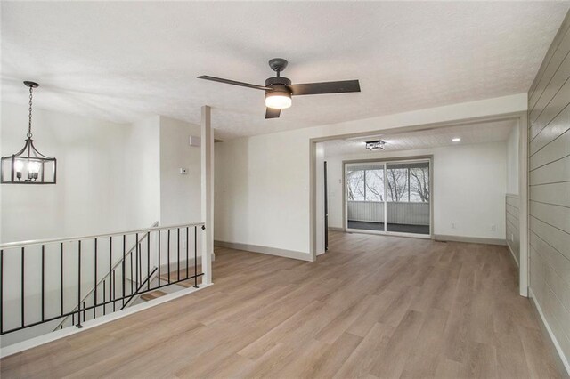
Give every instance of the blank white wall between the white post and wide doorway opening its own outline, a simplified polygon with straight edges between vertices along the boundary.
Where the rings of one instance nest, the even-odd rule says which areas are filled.
[[[308,252],[308,148],[303,133],[217,143],[214,239]]]

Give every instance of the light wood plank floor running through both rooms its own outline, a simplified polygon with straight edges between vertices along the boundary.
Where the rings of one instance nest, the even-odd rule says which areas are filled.
[[[2,377],[556,377],[502,246],[330,233],[216,249],[215,286],[0,361]]]

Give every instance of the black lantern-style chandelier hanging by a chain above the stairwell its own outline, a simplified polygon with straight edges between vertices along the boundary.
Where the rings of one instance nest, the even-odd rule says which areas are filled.
[[[24,82],[29,87],[28,133],[24,147],[11,156],[2,157],[0,182],[3,184],[55,184],[56,160],[37,151],[32,140],[32,91],[39,85]]]

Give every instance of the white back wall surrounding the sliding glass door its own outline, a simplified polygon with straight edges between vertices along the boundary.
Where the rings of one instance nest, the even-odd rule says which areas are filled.
[[[325,151],[326,153],[326,151]],[[343,228],[342,161],[433,155],[434,234],[505,238],[506,144],[493,142],[436,149],[327,156],[329,225]],[[455,223],[455,228],[452,228]],[[495,230],[492,230],[495,225]]]

